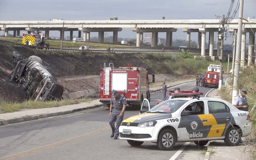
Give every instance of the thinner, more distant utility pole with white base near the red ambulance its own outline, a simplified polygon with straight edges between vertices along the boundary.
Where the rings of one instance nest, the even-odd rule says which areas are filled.
[[[224,40],[224,32],[225,32],[225,23],[226,23],[226,20],[225,20],[225,15],[223,15],[222,17],[222,20],[221,20],[221,46],[220,46],[220,70],[219,70],[219,89],[221,89],[222,87],[222,81],[223,81],[223,78],[222,78],[222,73],[223,73],[223,69],[222,69],[222,66],[223,66],[223,62],[222,62],[222,59],[223,59],[223,40]]]

